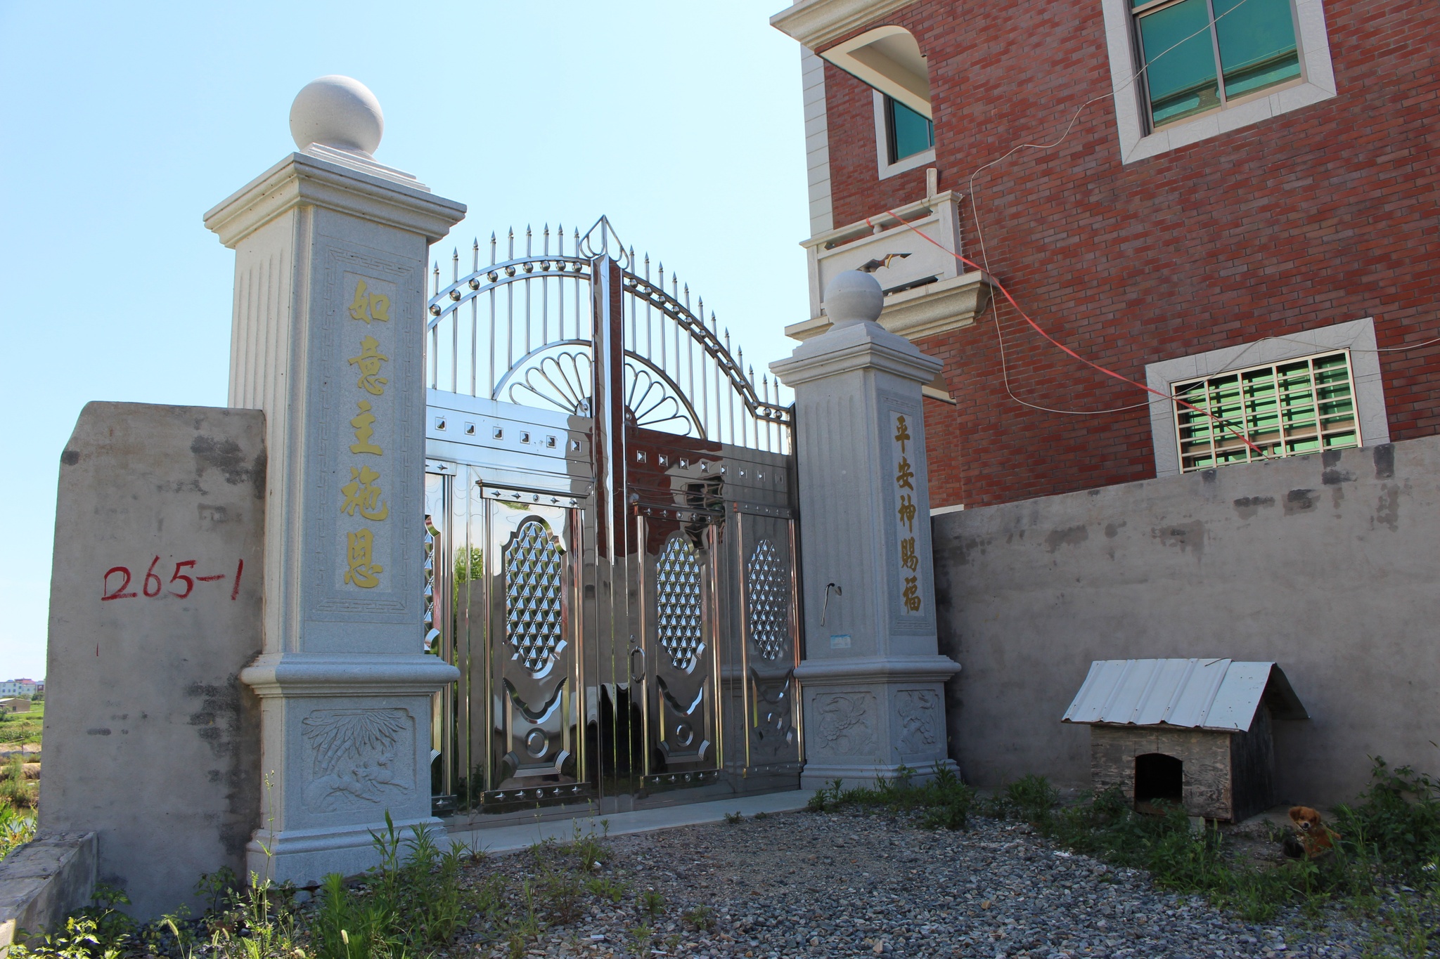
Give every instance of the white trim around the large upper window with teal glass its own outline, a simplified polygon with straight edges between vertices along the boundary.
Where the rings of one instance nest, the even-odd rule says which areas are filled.
[[[1201,139],[1310,106],[1335,96],[1335,68],[1322,0],[1293,0],[1299,27],[1300,79],[1272,92],[1259,92],[1202,116],[1146,134],[1142,95],[1135,76],[1135,33],[1130,0],[1100,0],[1104,40],[1110,47],[1110,85],[1115,89],[1115,122],[1120,134],[1120,162],[1136,162]]]

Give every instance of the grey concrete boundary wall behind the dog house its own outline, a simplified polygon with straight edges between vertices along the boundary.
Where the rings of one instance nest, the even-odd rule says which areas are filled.
[[[1277,799],[1335,804],[1369,759],[1440,772],[1440,439],[1227,466],[933,519],[950,755],[994,786],[1089,785],[1060,716],[1092,660],[1282,664]]]

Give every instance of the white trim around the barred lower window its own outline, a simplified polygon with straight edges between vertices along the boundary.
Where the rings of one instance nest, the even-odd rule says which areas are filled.
[[[1313,357],[1328,349],[1352,351],[1351,378],[1355,382],[1355,420],[1359,424],[1361,444],[1390,443],[1390,417],[1385,413],[1385,391],[1380,380],[1380,354],[1375,352],[1375,321],[1367,316],[1333,326],[1257,339],[1241,347],[1225,347],[1192,357],[1146,364],[1145,384],[1151,390],[1165,394],[1164,397],[1151,394],[1155,476],[1179,476],[1181,473],[1179,446],[1175,440],[1175,403],[1168,398],[1171,384],[1214,377],[1230,370]]]

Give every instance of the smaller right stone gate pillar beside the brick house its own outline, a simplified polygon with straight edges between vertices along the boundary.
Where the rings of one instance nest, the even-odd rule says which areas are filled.
[[[795,390],[805,659],[801,782],[871,785],[946,758],[922,385],[940,361],[876,319],[880,283],[825,290],[831,329],[770,370]]]

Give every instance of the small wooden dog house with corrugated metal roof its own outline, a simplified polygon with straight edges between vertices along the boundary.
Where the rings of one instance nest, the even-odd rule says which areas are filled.
[[[1096,791],[1240,821],[1274,804],[1279,719],[1309,719],[1279,666],[1197,659],[1097,660],[1060,722],[1090,726]]]

